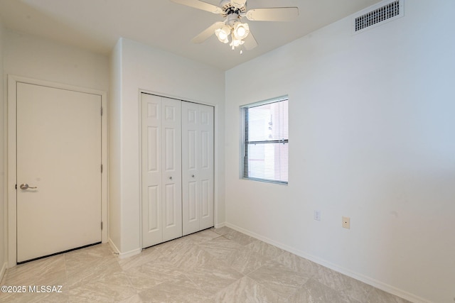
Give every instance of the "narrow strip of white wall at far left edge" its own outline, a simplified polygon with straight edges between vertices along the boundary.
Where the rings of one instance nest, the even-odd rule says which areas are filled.
[[[3,49],[4,49],[4,28],[0,20],[0,280],[1,275],[6,269],[6,226],[8,221],[6,216],[6,194],[5,194],[5,181],[6,181],[6,159],[5,159],[5,131],[6,131],[6,92],[4,87],[4,72],[3,72]]]

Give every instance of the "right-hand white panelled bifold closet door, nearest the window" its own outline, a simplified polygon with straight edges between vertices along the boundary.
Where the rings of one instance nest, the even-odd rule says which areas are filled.
[[[213,106],[182,102],[183,236],[213,226]]]

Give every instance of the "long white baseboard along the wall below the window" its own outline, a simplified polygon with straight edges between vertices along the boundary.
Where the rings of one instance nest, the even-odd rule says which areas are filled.
[[[387,283],[380,282],[378,280],[375,280],[371,277],[367,277],[365,275],[362,275],[358,272],[353,272],[352,270],[348,270],[347,268],[343,268],[341,266],[338,266],[336,264],[330,263],[327,260],[323,260],[319,257],[316,257],[314,255],[309,255],[308,253],[304,253],[301,250],[296,250],[295,248],[292,248],[290,246],[284,245],[283,243],[279,243],[277,241],[273,241],[269,238],[266,238],[264,236],[258,235],[257,233],[253,233],[251,231],[247,231],[244,228],[241,228],[239,226],[235,226],[234,224],[230,223],[225,223],[223,224],[224,226],[228,226],[229,228],[235,229],[236,231],[240,231],[241,233],[245,233],[248,236],[251,236],[253,238],[257,238],[260,241],[264,241],[265,243],[269,243],[273,246],[277,246],[278,248],[281,248],[283,250],[289,251],[289,253],[294,253],[294,255],[299,255],[301,258],[305,258],[307,260],[313,261],[314,263],[318,263],[319,265],[322,265],[326,268],[330,268],[331,270],[335,270],[336,272],[340,272],[343,275],[347,275],[348,277],[352,277],[355,280],[359,280],[361,282],[364,282],[368,285],[371,285],[373,287],[376,287],[380,290],[383,290],[385,292],[389,292],[390,294],[395,294],[397,297],[401,297],[402,299],[407,299],[410,302],[414,303],[432,303],[431,301],[427,299],[423,299],[421,297],[417,297],[414,294],[411,294],[410,292],[406,292],[405,290],[400,290],[397,287],[393,287],[392,285],[388,285]]]

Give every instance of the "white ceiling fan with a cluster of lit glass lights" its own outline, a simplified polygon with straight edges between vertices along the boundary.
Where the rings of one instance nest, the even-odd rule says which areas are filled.
[[[221,0],[220,6],[200,0],[171,1],[223,16],[225,21],[213,23],[191,41],[193,43],[203,43],[211,35],[215,34],[221,42],[230,43],[232,50],[237,47],[251,50],[257,46],[255,37],[250,33],[250,26],[248,26],[248,23],[241,22],[243,17],[250,21],[293,21],[299,16],[299,8],[297,7],[274,7],[247,11],[247,0]],[[240,53],[242,53],[242,50],[240,50]]]

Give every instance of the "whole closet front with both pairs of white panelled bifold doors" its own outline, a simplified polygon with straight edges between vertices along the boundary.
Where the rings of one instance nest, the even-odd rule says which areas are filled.
[[[213,226],[213,106],[141,93],[142,247]]]

